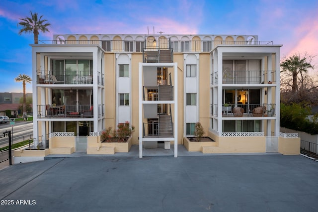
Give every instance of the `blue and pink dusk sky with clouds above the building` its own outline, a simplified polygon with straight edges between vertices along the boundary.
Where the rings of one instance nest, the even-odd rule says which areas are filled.
[[[0,92],[23,92],[19,74],[32,77],[33,33],[18,35],[30,11],[53,34],[247,34],[282,44],[281,60],[318,55],[318,0],[1,0]],[[318,66],[318,56],[312,62]],[[317,74],[318,69],[313,73]],[[32,81],[33,82],[33,81]],[[31,84],[27,92],[32,92]]]

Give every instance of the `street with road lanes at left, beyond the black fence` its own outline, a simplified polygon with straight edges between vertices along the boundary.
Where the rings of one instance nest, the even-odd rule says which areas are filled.
[[[0,124],[0,147],[8,145],[8,137],[2,137],[3,132],[11,131],[12,127],[9,123]],[[23,141],[23,136],[31,135],[33,133],[33,122],[31,121],[18,121],[13,125],[13,143]]]

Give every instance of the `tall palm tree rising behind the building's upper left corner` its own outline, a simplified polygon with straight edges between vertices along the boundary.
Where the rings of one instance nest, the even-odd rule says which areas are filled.
[[[22,26],[22,29],[19,30],[19,35],[21,35],[23,32],[24,33],[31,33],[33,32],[34,34],[34,43],[38,44],[38,38],[39,38],[39,31],[45,33],[45,32],[49,32],[49,29],[47,28],[48,26],[50,26],[50,23],[44,23],[47,20],[43,19],[41,20],[41,18],[43,17],[43,15],[40,16],[40,18],[38,18],[38,13],[34,12],[32,13],[32,11],[30,11],[31,13],[31,17],[26,16],[25,18],[20,18],[19,25]]]

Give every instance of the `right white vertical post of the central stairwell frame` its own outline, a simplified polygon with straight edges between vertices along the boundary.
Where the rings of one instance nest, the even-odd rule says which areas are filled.
[[[178,157],[178,63],[174,63],[174,157]]]

